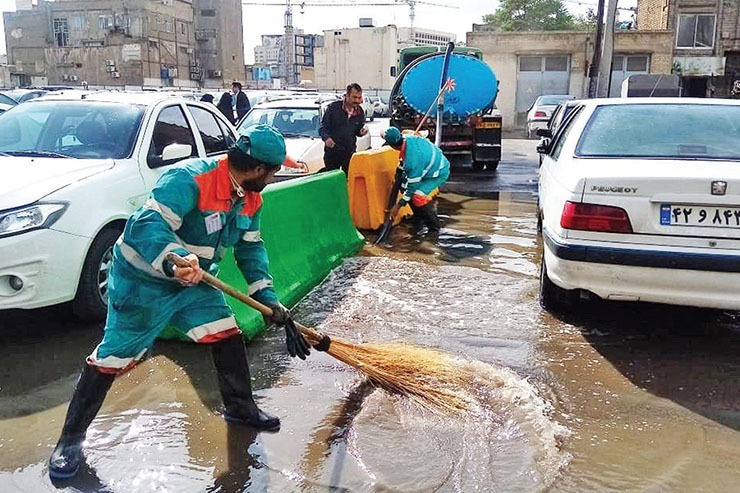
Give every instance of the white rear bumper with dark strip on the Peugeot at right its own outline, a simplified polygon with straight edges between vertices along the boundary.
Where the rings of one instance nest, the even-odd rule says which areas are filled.
[[[568,244],[543,232],[548,277],[600,298],[740,309],[740,255]]]

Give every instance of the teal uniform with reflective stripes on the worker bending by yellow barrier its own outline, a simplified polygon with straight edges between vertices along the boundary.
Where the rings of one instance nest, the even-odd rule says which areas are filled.
[[[401,159],[406,178],[398,203],[403,206],[410,202],[414,207],[424,207],[431,202],[431,193],[449,178],[450,162],[439,147],[416,135],[403,136]]]

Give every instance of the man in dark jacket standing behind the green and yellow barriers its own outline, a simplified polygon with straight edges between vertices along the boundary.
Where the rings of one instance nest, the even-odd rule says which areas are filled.
[[[353,83],[340,101],[331,103],[321,119],[319,135],[324,141],[324,169],[342,168],[349,174],[349,160],[357,149],[357,137],[367,134],[362,109],[362,87]]]

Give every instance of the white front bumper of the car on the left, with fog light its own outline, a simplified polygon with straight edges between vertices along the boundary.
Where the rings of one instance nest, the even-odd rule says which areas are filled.
[[[56,305],[75,297],[90,239],[52,229],[0,238],[0,310]],[[23,281],[15,290],[11,276]]]

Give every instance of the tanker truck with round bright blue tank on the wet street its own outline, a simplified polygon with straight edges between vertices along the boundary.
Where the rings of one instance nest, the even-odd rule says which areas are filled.
[[[428,108],[422,109],[418,104],[413,104],[415,95],[412,92],[416,92],[420,84],[439,87],[439,75],[436,80],[434,76],[423,78],[422,72],[428,72],[422,69],[421,64],[433,57],[443,56],[444,53],[433,46],[415,46],[399,52],[397,78],[389,101],[392,126],[401,130],[416,130],[421,124],[420,130],[428,132],[428,138],[435,140],[436,112],[432,109],[429,116],[424,118]],[[482,66],[486,69],[481,70]],[[471,67],[474,70],[469,70]],[[437,73],[441,74],[439,71]],[[465,91],[465,86],[479,87],[484,82],[483,85],[492,87],[494,93],[486,95],[487,102],[480,107],[471,107],[474,109],[469,112],[444,112],[440,148],[447,156],[470,156],[473,169],[477,171],[484,168],[495,170],[501,160],[502,122],[495,106],[497,82],[493,72],[483,62],[483,52],[473,47],[455,48],[449,77],[460,91]],[[492,85],[490,79],[493,80]]]

